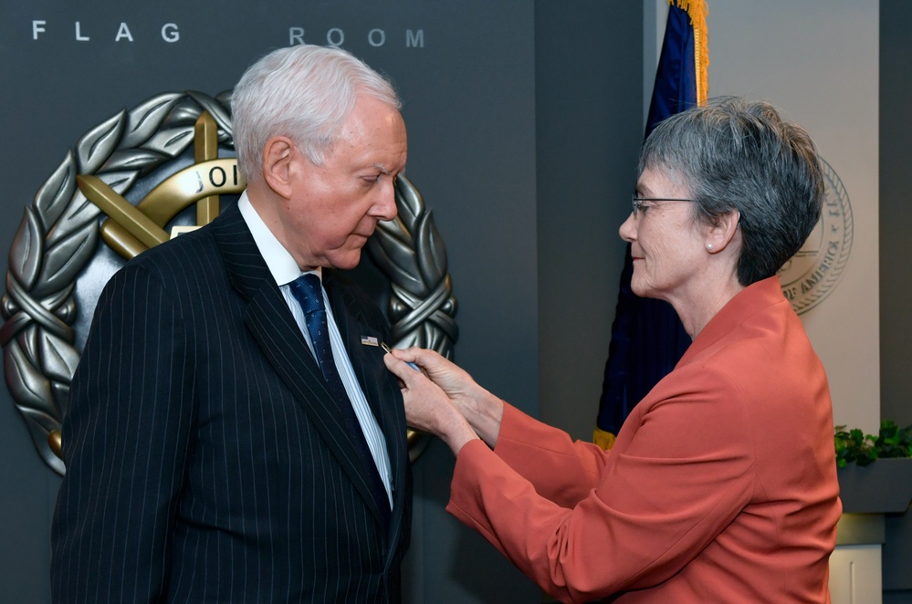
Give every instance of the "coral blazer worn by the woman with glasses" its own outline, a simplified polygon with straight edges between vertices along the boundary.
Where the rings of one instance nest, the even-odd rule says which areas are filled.
[[[447,510],[564,601],[828,602],[842,512],[823,365],[777,277],[722,308],[609,452],[506,405]]]

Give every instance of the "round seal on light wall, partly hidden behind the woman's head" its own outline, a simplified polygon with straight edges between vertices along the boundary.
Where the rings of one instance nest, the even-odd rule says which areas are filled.
[[[852,252],[849,195],[833,167],[819,159],[824,182],[820,221],[798,253],[779,270],[782,293],[799,315],[833,291]]]

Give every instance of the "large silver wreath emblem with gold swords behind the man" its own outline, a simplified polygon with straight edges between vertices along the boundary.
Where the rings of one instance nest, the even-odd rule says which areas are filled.
[[[58,474],[60,422],[101,288],[126,260],[211,222],[222,198],[244,189],[229,107],[230,92],[188,91],[122,109],[76,142],[26,206],[0,300],[0,344],[16,408]],[[394,346],[451,357],[458,328],[446,247],[403,175],[396,205],[355,278],[387,308]],[[409,432],[413,460],[426,442]]]

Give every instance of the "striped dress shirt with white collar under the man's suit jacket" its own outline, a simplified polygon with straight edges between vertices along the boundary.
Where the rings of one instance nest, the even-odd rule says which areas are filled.
[[[307,328],[307,323],[305,322],[304,311],[301,310],[298,301],[292,295],[291,286],[289,285],[292,281],[305,273],[301,272],[295,259],[288,253],[285,246],[279,243],[276,235],[272,234],[272,231],[269,230],[266,223],[263,222],[263,219],[259,217],[257,210],[254,209],[250,200],[247,198],[246,191],[241,193],[241,197],[237,201],[237,206],[241,211],[241,215],[244,217],[247,228],[249,228],[250,233],[253,234],[260,255],[262,255],[263,259],[266,261],[269,272],[276,280],[278,289],[282,292],[282,296],[285,297],[285,302],[288,304],[291,314],[294,315],[301,333],[304,334],[304,339],[307,340],[310,353],[313,354],[313,342],[310,341],[310,333]],[[386,495],[390,498],[390,507],[392,507],[393,478],[390,469],[390,456],[386,451],[386,438],[383,436],[380,424],[377,423],[377,419],[373,416],[371,407],[368,405],[367,399],[364,396],[364,391],[362,391],[361,384],[358,383],[354,370],[351,368],[351,359],[349,359],[348,352],[342,342],[339,327],[336,325],[336,319],[332,316],[330,300],[326,296],[326,290],[322,288],[323,276],[320,267],[317,267],[316,270],[307,272],[320,277],[320,291],[323,293],[323,305],[326,307],[326,322],[330,329],[332,359],[336,363],[336,369],[339,370],[345,392],[349,395],[351,407],[354,409],[358,422],[361,424],[364,438],[367,440],[367,445],[371,449],[373,461],[377,464],[377,470],[380,472],[380,477],[383,479],[383,486],[386,487]],[[316,359],[316,355],[314,356],[314,359]]]

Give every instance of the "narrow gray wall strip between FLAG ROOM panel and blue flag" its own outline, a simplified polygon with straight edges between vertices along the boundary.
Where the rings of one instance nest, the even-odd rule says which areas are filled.
[[[571,5],[536,5],[540,411],[591,441],[643,141],[643,6]]]

